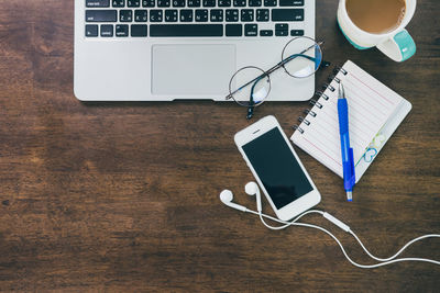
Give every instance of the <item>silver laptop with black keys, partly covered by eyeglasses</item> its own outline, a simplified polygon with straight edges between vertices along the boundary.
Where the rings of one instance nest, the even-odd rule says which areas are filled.
[[[315,0],[76,0],[81,101],[226,101],[244,66],[266,70],[295,36],[315,38]],[[268,101],[305,101],[315,77],[278,70]]]

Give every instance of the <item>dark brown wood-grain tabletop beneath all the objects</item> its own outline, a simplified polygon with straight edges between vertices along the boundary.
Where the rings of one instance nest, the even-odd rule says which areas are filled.
[[[78,0],[79,1],[79,0]],[[440,233],[440,4],[419,1],[404,64],[354,49],[337,29],[337,0],[317,1],[317,38],[413,103],[413,111],[344,201],[342,181],[296,148],[322,193],[376,255]],[[327,235],[273,232],[219,201],[252,179],[233,134],[243,109],[213,102],[81,103],[73,94],[74,1],[0,1],[0,290],[435,292],[440,268],[351,266]],[[324,81],[330,69],[320,72]],[[267,103],[285,132],[307,108]],[[255,121],[255,120],[254,120]],[[271,213],[267,204],[265,211]],[[352,237],[319,216],[359,262]],[[440,240],[403,256],[440,259]]]

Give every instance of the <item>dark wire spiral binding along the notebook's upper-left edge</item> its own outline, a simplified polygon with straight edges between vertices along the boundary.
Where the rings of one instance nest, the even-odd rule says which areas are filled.
[[[326,100],[326,101],[328,101],[328,100],[330,99],[330,98],[324,93],[324,91],[326,91],[327,89],[330,90],[330,91],[332,91],[332,92],[336,91],[336,89],[334,89],[330,83],[331,83],[333,80],[334,80],[336,82],[338,82],[338,83],[341,82],[341,80],[340,80],[339,78],[337,78],[337,75],[338,75],[339,72],[342,72],[344,76],[348,75],[346,70],[343,69],[342,67],[334,67],[334,69],[333,69],[333,75],[330,75],[330,76],[328,77],[328,79],[327,79],[327,80],[328,80],[328,83],[323,83],[323,86],[322,86],[322,91],[316,91],[316,92],[315,92],[315,97],[317,97],[317,98],[310,100],[310,104],[311,104],[311,105],[316,105],[318,109],[322,109],[322,108],[323,108],[323,105],[319,102],[319,100],[320,100],[321,98],[322,98],[323,100]],[[306,116],[309,115],[310,117],[316,117],[316,116],[318,115],[317,112],[315,112],[315,111],[312,111],[312,110],[309,110],[309,109],[305,109],[305,110],[304,110],[304,114],[305,114]],[[304,123],[305,125],[307,125],[307,126],[309,126],[309,125],[311,124],[311,121],[309,121],[309,120],[307,120],[307,119],[305,119],[305,117],[302,117],[302,116],[299,116],[299,117],[298,117],[298,122],[299,122],[299,125],[295,124],[293,127],[294,127],[294,129],[298,131],[300,134],[304,134],[304,133],[305,133],[305,129],[300,127],[300,125],[301,125],[302,123]]]

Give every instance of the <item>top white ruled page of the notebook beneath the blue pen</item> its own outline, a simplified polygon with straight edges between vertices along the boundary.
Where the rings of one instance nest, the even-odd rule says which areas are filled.
[[[342,81],[345,98],[349,104],[350,145],[353,148],[354,164],[358,165],[365,154],[367,146],[389,120],[396,108],[404,100],[396,92],[370,76],[352,61],[348,60],[342,70],[336,76]],[[292,140],[310,154],[333,172],[342,177],[341,143],[338,122],[338,87],[333,79],[330,87],[323,92],[329,99],[320,98],[319,109],[315,105],[311,111],[316,113],[306,116]]]

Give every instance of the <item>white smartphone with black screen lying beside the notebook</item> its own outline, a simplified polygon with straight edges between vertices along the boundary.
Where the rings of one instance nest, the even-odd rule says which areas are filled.
[[[266,116],[234,136],[276,216],[288,221],[317,205],[321,194],[274,116]]]

